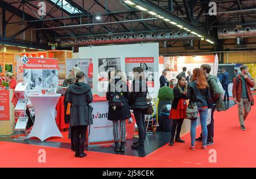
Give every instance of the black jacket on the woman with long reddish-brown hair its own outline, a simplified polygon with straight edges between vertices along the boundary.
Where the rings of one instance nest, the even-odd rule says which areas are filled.
[[[209,87],[203,89],[197,88],[196,80],[188,83],[187,99],[189,99],[189,103],[196,103],[198,107],[208,106],[208,101],[210,100]]]

